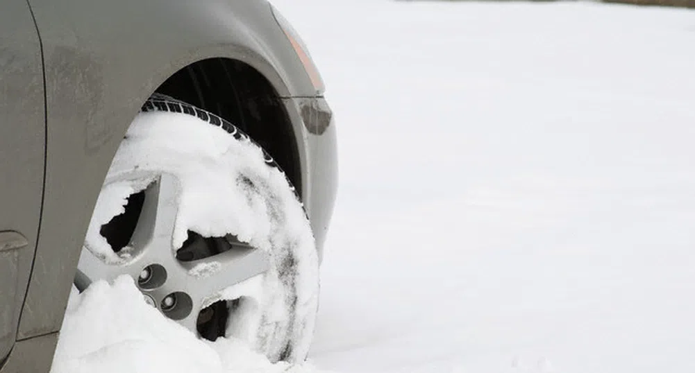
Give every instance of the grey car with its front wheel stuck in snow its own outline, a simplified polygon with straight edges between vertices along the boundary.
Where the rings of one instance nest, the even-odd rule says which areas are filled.
[[[120,276],[200,338],[304,359],[336,128],[277,9],[6,0],[0,35],[0,372],[48,372],[70,293]]]

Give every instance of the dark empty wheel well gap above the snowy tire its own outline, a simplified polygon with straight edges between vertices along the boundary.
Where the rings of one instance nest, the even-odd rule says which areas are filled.
[[[242,129],[275,158],[302,197],[292,122],[275,88],[256,69],[228,58],[201,60],[179,70],[156,92],[220,115]]]

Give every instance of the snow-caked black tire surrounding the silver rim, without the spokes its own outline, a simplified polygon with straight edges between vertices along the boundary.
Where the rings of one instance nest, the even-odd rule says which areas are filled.
[[[227,336],[273,361],[303,360],[318,304],[318,255],[309,221],[272,158],[220,117],[168,97],[149,99],[117,150],[85,247],[101,258],[124,260],[99,228],[122,213],[130,194],[163,173],[178,185],[172,248],[181,247],[190,230],[235,235],[270,256],[268,272],[206,299],[243,300]]]

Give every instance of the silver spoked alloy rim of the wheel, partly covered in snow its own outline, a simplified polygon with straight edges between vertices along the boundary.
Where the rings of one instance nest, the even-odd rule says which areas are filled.
[[[127,196],[116,192],[124,188]],[[99,199],[125,197],[127,203],[99,227],[98,235],[88,233],[79,270],[88,279],[131,276],[148,304],[214,340],[224,335],[229,310],[238,302],[222,292],[266,272],[270,257],[232,235],[204,237],[188,231],[183,244],[174,247],[180,188],[177,177],[165,172],[131,172],[109,180]],[[99,214],[104,213],[95,210]]]

